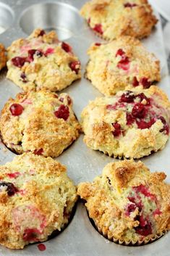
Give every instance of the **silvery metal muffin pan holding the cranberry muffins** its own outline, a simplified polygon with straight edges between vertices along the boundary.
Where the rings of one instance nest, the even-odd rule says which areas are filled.
[[[12,41],[20,37],[26,37],[35,28],[55,29],[61,40],[67,40],[72,45],[75,54],[82,63],[82,79],[76,81],[64,89],[74,99],[74,110],[78,119],[83,107],[89,100],[102,94],[95,89],[88,80],[83,78],[85,64],[88,62],[86,51],[94,41],[102,41],[94,35],[93,31],[79,15],[79,9],[85,4],[85,0],[0,0],[0,41],[9,46]],[[158,14],[156,14],[158,17]],[[159,17],[158,17],[159,19]],[[161,22],[150,37],[143,40],[148,50],[153,51],[161,60],[161,77],[159,86],[166,91],[170,99],[170,85],[166,56],[163,46]],[[0,75],[0,109],[9,97],[14,97],[22,91],[12,81],[7,80],[6,71]],[[88,149],[82,141],[81,135],[69,149],[65,150],[56,160],[67,166],[68,175],[75,184],[82,181],[92,181],[95,176],[101,174],[103,167],[117,161],[101,152]],[[152,171],[163,170],[166,172],[166,181],[170,183],[170,142],[157,153],[141,159]],[[0,164],[11,161],[15,154],[0,144]],[[1,217],[0,217],[1,218]],[[114,244],[101,234],[90,223],[85,207],[81,202],[77,205],[75,216],[69,226],[58,236],[43,244],[46,250],[40,252],[37,244],[31,244],[22,250],[12,250],[0,247],[0,255],[46,255],[46,256],[168,256],[170,252],[170,232],[161,239],[140,247],[126,247]]]

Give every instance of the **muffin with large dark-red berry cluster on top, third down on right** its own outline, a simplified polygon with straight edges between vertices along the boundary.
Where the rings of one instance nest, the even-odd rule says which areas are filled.
[[[157,86],[97,98],[81,117],[85,144],[109,156],[144,157],[169,139],[170,102]]]

